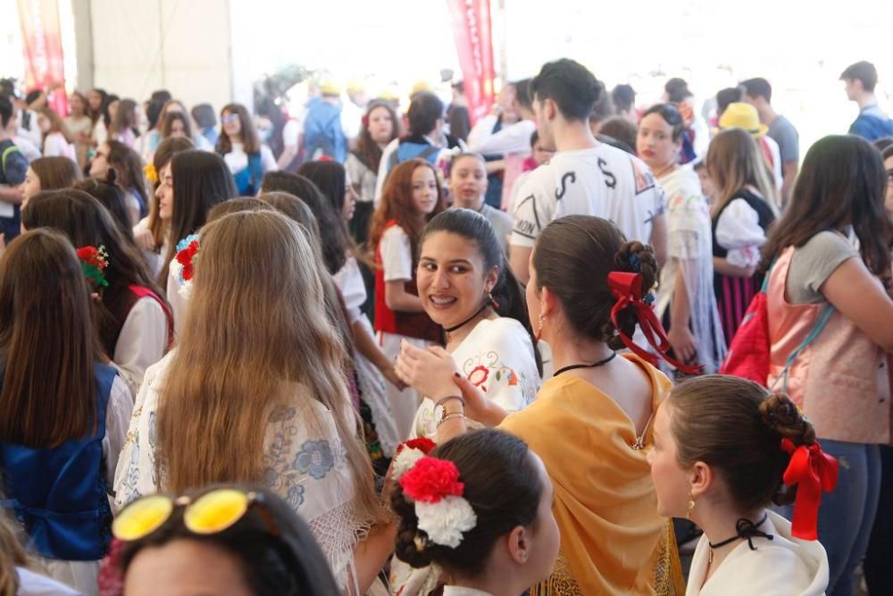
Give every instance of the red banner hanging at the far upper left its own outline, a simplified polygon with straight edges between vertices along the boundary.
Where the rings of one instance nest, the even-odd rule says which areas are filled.
[[[22,51],[25,55],[25,92],[41,88],[50,105],[61,115],[68,113],[65,97],[62,30],[58,0],[19,0]]]

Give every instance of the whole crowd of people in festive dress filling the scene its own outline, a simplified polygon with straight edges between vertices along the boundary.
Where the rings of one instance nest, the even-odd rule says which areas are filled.
[[[893,120],[841,80],[802,157],[767,80],[708,122],[569,59],[473,125],[4,82],[0,595],[893,593]]]

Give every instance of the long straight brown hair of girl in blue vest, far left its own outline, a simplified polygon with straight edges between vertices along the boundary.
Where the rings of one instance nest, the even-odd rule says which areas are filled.
[[[99,347],[63,234],[28,231],[0,258],[0,441],[54,448],[96,430]]]

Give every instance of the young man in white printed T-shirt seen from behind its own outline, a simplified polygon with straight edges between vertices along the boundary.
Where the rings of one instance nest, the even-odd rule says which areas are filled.
[[[651,244],[663,264],[663,190],[638,157],[592,136],[588,117],[600,88],[591,72],[566,58],[545,64],[530,83],[539,138],[556,153],[530,172],[516,195],[511,265],[522,283],[530,279],[530,252],[539,232],[571,214],[611,220],[628,240]]]

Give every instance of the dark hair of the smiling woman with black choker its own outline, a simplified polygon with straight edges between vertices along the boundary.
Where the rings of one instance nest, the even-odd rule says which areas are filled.
[[[539,354],[538,341],[530,326],[530,316],[527,314],[527,300],[521,284],[514,277],[512,268],[508,265],[505,252],[499,245],[496,232],[489,220],[483,215],[471,209],[447,209],[431,218],[425,229],[421,231],[419,248],[424,244],[430,234],[438,231],[448,231],[471,240],[478,247],[478,253],[484,260],[484,270],[489,271],[493,267],[499,270],[497,283],[490,294],[497,303],[494,310],[497,315],[514,319],[524,326],[530,334],[533,344],[533,354],[537,361],[537,370],[543,374],[543,361]],[[418,259],[416,259],[418,260]]]

